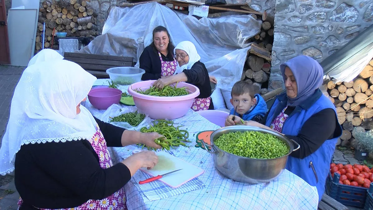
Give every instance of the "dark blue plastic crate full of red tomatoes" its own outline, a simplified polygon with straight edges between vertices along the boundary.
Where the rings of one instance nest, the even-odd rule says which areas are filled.
[[[367,188],[373,181],[373,169],[358,164],[330,164],[326,192],[339,203],[363,208]]]

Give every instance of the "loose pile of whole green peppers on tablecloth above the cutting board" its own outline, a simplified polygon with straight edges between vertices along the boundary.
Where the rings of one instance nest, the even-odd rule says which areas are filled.
[[[186,146],[186,142],[191,142],[188,139],[189,132],[187,130],[180,130],[181,126],[174,127],[172,120],[155,120],[153,121],[154,125],[149,128],[142,127],[140,132],[150,133],[157,132],[160,135],[163,135],[164,138],[155,139],[154,142],[162,146],[162,150],[176,149],[178,146]],[[144,144],[138,144],[144,148]],[[145,146],[148,150],[156,150],[152,147]]]

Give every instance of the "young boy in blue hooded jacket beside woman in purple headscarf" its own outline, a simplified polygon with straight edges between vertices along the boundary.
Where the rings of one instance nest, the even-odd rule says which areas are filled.
[[[259,94],[254,95],[253,85],[245,81],[238,81],[232,87],[231,96],[233,108],[230,115],[239,116],[246,121],[260,122],[267,114],[267,104]],[[227,121],[228,118],[225,122],[226,126],[229,125]]]

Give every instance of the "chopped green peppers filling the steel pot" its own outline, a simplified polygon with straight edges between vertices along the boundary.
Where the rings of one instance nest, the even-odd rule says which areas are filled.
[[[275,136],[257,131],[225,133],[214,144],[231,154],[255,159],[283,157],[289,152],[288,146]]]

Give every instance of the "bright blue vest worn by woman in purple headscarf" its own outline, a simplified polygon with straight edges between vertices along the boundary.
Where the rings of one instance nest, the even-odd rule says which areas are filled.
[[[275,103],[269,111],[266,126],[270,126],[272,121],[280,114],[287,104],[286,93],[277,96]],[[282,132],[285,135],[297,136],[305,121],[313,114],[326,109],[332,108],[335,112],[335,106],[332,102],[317,89],[303,104],[295,107],[283,124]],[[342,128],[336,117],[336,129],[333,139],[326,140],[319,149],[313,154],[300,159],[295,157],[288,158],[286,169],[301,177],[311,186],[316,186],[319,194],[319,201],[325,191],[325,181],[330,169],[330,160],[335,150],[335,145],[339,136],[342,135]],[[316,171],[314,173],[313,169]]]

